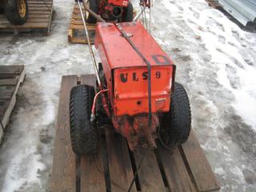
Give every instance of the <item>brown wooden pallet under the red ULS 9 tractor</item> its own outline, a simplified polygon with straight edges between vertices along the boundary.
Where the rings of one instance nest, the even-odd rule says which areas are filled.
[[[106,128],[98,154],[76,156],[70,144],[70,90],[94,85],[93,74],[63,76],[54,142],[50,191],[127,191],[144,151],[130,152],[126,139]],[[136,184],[136,185],[135,185]],[[219,185],[193,131],[188,141],[170,151],[150,151],[131,191],[218,191]]]

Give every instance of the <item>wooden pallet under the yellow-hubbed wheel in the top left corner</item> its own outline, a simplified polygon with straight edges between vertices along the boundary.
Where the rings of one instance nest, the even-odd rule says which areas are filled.
[[[7,19],[6,15],[0,14],[0,31],[15,34],[23,31],[45,31],[50,34],[50,23],[53,15],[53,0],[27,0],[28,2],[28,20],[22,26],[14,26]]]

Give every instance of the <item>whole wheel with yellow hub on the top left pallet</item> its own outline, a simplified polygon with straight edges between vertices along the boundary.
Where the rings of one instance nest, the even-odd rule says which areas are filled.
[[[13,25],[23,25],[28,15],[26,0],[7,0],[5,4],[6,18]]]

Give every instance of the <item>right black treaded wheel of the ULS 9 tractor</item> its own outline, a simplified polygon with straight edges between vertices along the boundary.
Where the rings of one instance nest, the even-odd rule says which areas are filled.
[[[184,87],[175,82],[171,95],[170,111],[160,118],[160,139],[168,147],[186,142],[190,135],[190,101]]]

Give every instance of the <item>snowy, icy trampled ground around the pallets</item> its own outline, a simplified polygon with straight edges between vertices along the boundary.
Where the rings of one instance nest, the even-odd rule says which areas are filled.
[[[61,77],[93,73],[87,47],[67,42],[72,4],[54,0],[48,37],[1,34],[1,65],[26,65],[0,147],[1,191],[47,191]],[[256,34],[204,0],[155,1],[153,23],[154,38],[178,66],[222,191],[256,191]]]

